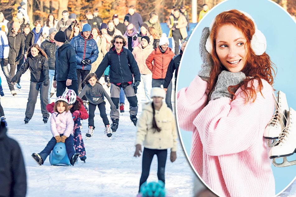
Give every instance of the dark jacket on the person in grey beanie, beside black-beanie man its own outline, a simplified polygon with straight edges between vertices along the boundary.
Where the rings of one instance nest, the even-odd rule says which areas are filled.
[[[41,43],[40,48],[46,53],[47,55],[47,63],[49,70],[54,70],[55,64],[55,52],[57,51],[55,42],[50,42],[49,36]]]

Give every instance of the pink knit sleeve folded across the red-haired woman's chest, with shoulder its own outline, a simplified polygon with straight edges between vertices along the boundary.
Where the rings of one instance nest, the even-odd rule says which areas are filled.
[[[252,139],[263,138],[263,131],[274,111],[273,89],[262,80],[263,96],[254,80],[256,100],[246,103],[242,89],[235,93],[235,99],[222,97],[209,101],[208,105],[196,116],[196,126],[208,155],[239,153],[253,146]]]

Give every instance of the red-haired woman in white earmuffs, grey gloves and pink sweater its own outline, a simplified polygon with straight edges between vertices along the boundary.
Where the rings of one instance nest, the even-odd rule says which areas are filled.
[[[209,39],[208,39],[209,38]],[[177,94],[180,127],[193,131],[190,160],[219,196],[274,196],[269,148],[273,63],[247,13],[218,14],[200,39],[201,71]]]

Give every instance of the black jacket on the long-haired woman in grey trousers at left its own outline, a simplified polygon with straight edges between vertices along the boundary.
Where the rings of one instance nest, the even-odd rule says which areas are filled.
[[[49,69],[47,59],[43,55],[38,54],[36,57],[27,57],[25,63],[21,66],[20,70],[16,72],[16,75],[12,77],[11,81],[17,81],[22,74],[24,74],[28,68],[31,71],[31,81],[40,83],[43,81],[49,81]]]

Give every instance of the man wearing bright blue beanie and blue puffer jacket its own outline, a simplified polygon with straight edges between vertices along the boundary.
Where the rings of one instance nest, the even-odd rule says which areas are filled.
[[[99,54],[98,45],[96,44],[96,41],[92,39],[93,36],[91,31],[91,25],[85,24],[83,25],[82,32],[80,32],[78,36],[75,36],[70,41],[70,44],[72,44],[76,53],[77,79],[79,80],[81,76],[81,82],[79,80],[78,87],[81,85],[82,89],[85,86],[83,81],[89,74],[92,68],[92,63],[96,61]],[[84,107],[86,107],[87,98],[83,96],[81,99],[83,100]]]

